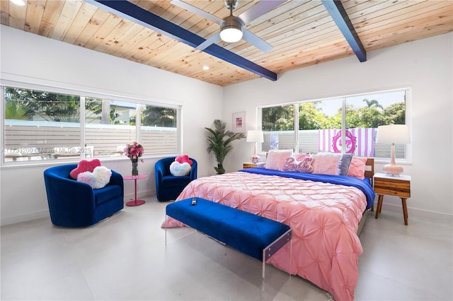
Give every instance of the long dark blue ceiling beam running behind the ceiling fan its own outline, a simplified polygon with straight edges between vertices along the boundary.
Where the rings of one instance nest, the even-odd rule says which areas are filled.
[[[115,13],[115,15],[117,16],[131,20],[134,23],[143,25],[163,35],[167,35],[168,37],[178,40],[179,42],[183,42],[191,47],[195,48],[202,42],[205,42],[205,39],[203,37],[195,35],[195,33],[191,33],[189,30],[181,28],[180,26],[171,23],[170,21],[165,20],[164,18],[161,18],[160,16],[157,16],[154,13],[151,13],[139,6],[136,6],[129,1],[85,1],[89,4],[93,4],[94,6],[104,9],[105,11]],[[242,69],[251,71],[259,76],[268,78],[271,81],[277,81],[276,73],[253,63],[253,61],[244,59],[243,57],[234,54],[233,52],[230,52],[229,50],[224,49],[219,45],[212,44],[202,51],[231,64],[234,64],[235,66],[239,66]]]

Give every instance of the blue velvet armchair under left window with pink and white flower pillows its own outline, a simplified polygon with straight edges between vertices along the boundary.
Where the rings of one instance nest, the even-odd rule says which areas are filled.
[[[124,208],[122,176],[112,170],[110,182],[101,189],[71,179],[76,164],[59,165],[44,171],[47,203],[52,224],[61,227],[86,227],[112,216]]]

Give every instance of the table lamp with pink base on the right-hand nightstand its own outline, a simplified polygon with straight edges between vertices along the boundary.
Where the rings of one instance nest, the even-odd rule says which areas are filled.
[[[395,143],[411,143],[409,127],[406,124],[390,124],[377,127],[376,143],[391,144],[390,164],[382,167],[387,175],[398,176],[403,172],[403,167],[395,163]]]

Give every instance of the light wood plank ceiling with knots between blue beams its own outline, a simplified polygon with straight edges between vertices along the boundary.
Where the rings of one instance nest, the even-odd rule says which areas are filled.
[[[217,23],[169,0],[130,2],[204,39],[219,31]],[[219,18],[229,16],[224,1],[187,2]],[[239,1],[234,16],[256,3]],[[341,4],[366,52],[453,31],[451,0],[342,0]],[[28,0],[17,6],[1,0],[0,8],[3,25],[208,83],[226,86],[260,77],[86,1]],[[245,28],[273,49],[263,53],[243,40],[217,45],[277,74],[355,55],[319,0],[286,1]],[[358,59],[357,64],[361,64]]]

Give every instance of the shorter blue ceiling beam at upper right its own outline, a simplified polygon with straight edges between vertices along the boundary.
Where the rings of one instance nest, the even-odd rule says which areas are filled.
[[[333,21],[338,26],[338,29],[343,33],[346,40],[348,41],[352,51],[355,53],[359,61],[367,60],[367,51],[363,47],[360,41],[359,35],[355,31],[354,25],[346,13],[343,4],[340,0],[321,0],[323,5],[326,7],[328,13],[331,14]]]

